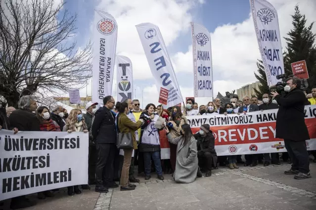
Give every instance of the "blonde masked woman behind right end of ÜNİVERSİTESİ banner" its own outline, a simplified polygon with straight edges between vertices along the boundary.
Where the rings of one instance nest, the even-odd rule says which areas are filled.
[[[85,122],[85,118],[82,116],[82,112],[80,109],[72,109],[67,118],[66,125],[63,128],[63,131],[67,131],[68,133],[72,132],[84,132],[88,133],[87,124]],[[87,180],[88,182],[88,180]],[[81,190],[79,189],[79,185],[69,186],[68,187],[68,195],[73,196],[76,194],[81,194]]]

